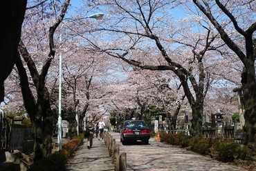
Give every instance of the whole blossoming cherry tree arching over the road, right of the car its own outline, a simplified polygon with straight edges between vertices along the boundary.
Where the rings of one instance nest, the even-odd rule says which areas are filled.
[[[91,47],[144,70],[176,74],[192,108],[191,133],[201,136],[204,99],[213,75],[221,72],[218,60],[232,55],[219,33],[201,17],[176,20],[175,1],[97,2],[109,17],[101,39],[90,39]]]

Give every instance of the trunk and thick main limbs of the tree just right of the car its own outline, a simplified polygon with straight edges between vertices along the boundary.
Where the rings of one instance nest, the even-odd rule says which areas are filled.
[[[149,28],[150,29],[150,28]],[[154,34],[152,34],[152,39],[156,42],[156,46],[158,50],[162,52],[162,56],[165,58],[165,61],[168,62],[168,66],[146,66],[140,65],[140,63],[136,61],[131,61],[126,59],[125,56],[127,53],[118,55],[118,58],[123,61],[131,64],[132,66],[137,66],[139,68],[145,70],[170,70],[179,77],[181,81],[181,86],[185,92],[185,97],[187,97],[188,102],[190,103],[190,107],[192,108],[192,126],[190,128],[190,132],[192,136],[202,136],[202,123],[203,123],[203,101],[205,99],[205,95],[208,92],[208,88],[210,86],[210,77],[206,77],[206,73],[203,67],[203,57],[205,53],[209,50],[211,43],[214,41],[215,37],[210,38],[210,30],[208,30],[208,35],[206,37],[205,48],[200,52],[196,52],[196,46],[192,52],[194,53],[194,63],[199,66],[198,68],[198,79],[194,77],[192,74],[192,68],[187,70],[185,67],[181,66],[181,64],[176,63],[170,59],[167,52],[165,52],[165,48],[163,48],[160,40]],[[193,95],[192,90],[190,90],[190,85],[192,85],[192,90],[194,90],[195,95]]]

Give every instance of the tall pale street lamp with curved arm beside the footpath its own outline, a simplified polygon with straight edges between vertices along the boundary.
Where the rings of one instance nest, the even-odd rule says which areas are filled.
[[[102,19],[103,13],[95,13],[91,14],[87,17],[81,18],[91,18],[91,19]],[[68,22],[67,22],[68,23]],[[60,28],[60,59],[59,59],[59,117],[57,121],[58,125],[58,132],[57,132],[57,143],[58,143],[58,150],[62,150],[62,28],[65,26],[66,23],[62,24]]]

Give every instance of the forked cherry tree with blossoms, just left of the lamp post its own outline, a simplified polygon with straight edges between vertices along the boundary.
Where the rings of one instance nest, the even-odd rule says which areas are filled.
[[[19,53],[17,53],[16,67],[19,73],[24,106],[35,130],[35,160],[47,157],[51,154],[52,149],[54,115],[51,109],[50,95],[46,87],[46,77],[55,57],[54,33],[66,13],[69,1],[65,1],[64,5],[62,4],[63,6],[58,6],[60,4],[42,3],[40,7],[35,6],[35,8],[27,10],[24,32],[22,32]],[[29,5],[33,5],[33,3],[29,3]],[[50,10],[53,7],[55,10]],[[48,22],[49,16],[55,16],[56,19]],[[37,28],[35,25],[39,27]],[[32,30],[29,28],[33,29],[33,35],[31,35]],[[47,28],[49,31],[46,31]],[[30,32],[26,34],[28,30]],[[46,39],[47,33],[48,40]],[[37,41],[34,41],[35,39]],[[45,43],[48,43],[49,46],[46,46]],[[48,54],[46,54],[46,47],[48,47]],[[44,57],[46,58],[42,60]],[[41,72],[37,69],[40,67],[42,67]]]

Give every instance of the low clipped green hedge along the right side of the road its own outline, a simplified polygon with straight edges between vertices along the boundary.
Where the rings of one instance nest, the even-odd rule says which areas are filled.
[[[171,145],[179,145],[181,148],[188,148],[201,155],[210,155],[212,158],[223,162],[235,160],[256,161],[255,152],[247,146],[230,141],[213,143],[210,139],[191,137],[185,134],[167,134],[161,132],[161,142]]]

